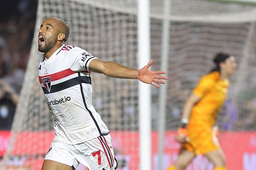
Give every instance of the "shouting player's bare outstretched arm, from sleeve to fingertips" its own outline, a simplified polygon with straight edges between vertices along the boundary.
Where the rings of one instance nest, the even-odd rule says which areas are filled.
[[[102,73],[109,77],[125,78],[125,79],[139,79],[141,82],[154,85],[160,88],[157,83],[165,84],[163,80],[167,77],[160,76],[159,74],[166,74],[165,71],[152,71],[149,67],[152,65],[153,60],[151,59],[147,65],[140,70],[125,67],[124,65],[116,62],[104,62],[99,59],[93,59],[90,62],[90,71],[96,73]]]

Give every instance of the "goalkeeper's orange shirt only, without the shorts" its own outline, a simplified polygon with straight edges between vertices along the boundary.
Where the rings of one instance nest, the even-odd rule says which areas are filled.
[[[201,99],[193,107],[190,116],[190,124],[196,123],[212,127],[218,111],[221,109],[229,87],[229,81],[221,80],[217,71],[207,74],[201,78],[194,94]]]

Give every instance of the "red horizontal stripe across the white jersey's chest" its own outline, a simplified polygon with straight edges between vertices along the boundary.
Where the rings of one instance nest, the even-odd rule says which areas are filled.
[[[90,71],[81,71],[81,72],[84,72],[84,73],[90,73]],[[72,74],[76,74],[77,72],[75,71],[72,71],[70,68],[66,69],[66,70],[63,70],[63,71],[59,71],[57,73],[54,73],[54,74],[48,74],[48,75],[45,75],[45,76],[39,76],[39,82],[40,83],[43,83],[42,79],[44,79],[45,77],[50,77],[51,78],[51,81],[56,81],[56,80],[59,80],[59,79],[63,79],[64,77],[67,77],[67,76],[70,76]]]

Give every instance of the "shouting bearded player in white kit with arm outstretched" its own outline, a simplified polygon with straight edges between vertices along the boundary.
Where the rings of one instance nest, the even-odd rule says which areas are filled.
[[[117,167],[110,132],[92,105],[90,72],[109,77],[139,79],[157,88],[165,71],[151,71],[152,60],[140,70],[104,62],[84,49],[65,45],[70,28],[59,18],[43,21],[38,34],[39,82],[52,111],[55,137],[42,170],[75,170],[81,162],[89,170]]]

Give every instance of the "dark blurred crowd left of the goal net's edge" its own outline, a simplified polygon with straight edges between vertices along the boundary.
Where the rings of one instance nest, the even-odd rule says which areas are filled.
[[[37,0],[0,2],[0,129],[10,129],[29,58]]]

